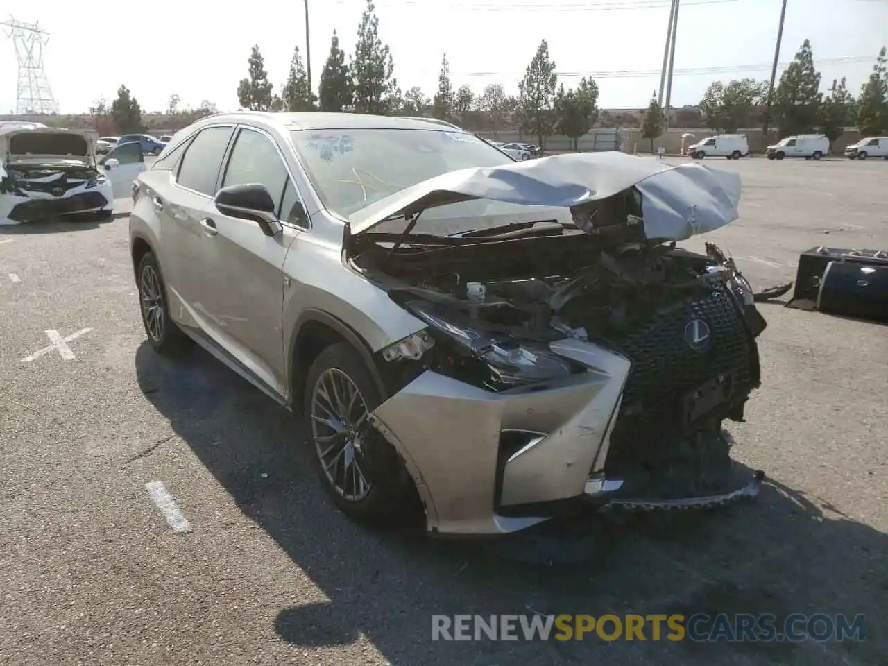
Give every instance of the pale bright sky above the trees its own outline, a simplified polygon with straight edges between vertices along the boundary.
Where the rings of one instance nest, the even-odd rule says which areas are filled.
[[[353,52],[366,2],[308,3],[317,90],[333,30],[346,54]],[[196,0],[92,5],[29,0],[14,6],[16,20],[39,21],[49,33],[44,69],[60,113],[85,112],[99,98],[114,99],[121,84],[143,111],[165,109],[173,93],[183,106],[208,99],[220,110],[234,110],[253,44],[265,57],[275,91],[287,76],[294,47],[305,58],[300,0],[250,0],[212,9]],[[392,50],[404,91],[418,85],[431,96],[446,52],[455,87],[468,84],[480,92],[488,83],[502,83],[515,93],[546,39],[565,87],[591,75],[599,83],[599,107],[640,108],[659,87],[669,7],[669,0],[378,0],[376,12],[379,36]],[[697,104],[714,80],[769,78],[780,11],[781,0],[681,0],[671,106]],[[824,91],[834,78],[846,76],[856,95],[888,44],[888,0],[789,0],[781,68],[805,38]],[[0,57],[0,113],[12,113],[17,91],[12,39],[0,41]]]

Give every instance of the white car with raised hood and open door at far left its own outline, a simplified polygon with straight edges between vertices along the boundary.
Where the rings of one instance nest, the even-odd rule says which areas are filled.
[[[91,137],[47,127],[0,126],[0,225],[56,216],[110,218],[145,170],[139,144],[96,160]]]

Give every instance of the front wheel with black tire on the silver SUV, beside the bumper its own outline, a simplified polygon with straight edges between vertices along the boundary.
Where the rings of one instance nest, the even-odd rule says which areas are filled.
[[[358,399],[353,401],[353,409],[342,409],[342,404],[336,408],[331,401],[323,397],[321,389],[329,386],[330,377],[334,377],[338,382],[337,385],[342,388],[343,403],[346,400],[345,392],[350,390],[345,384],[346,378],[357,390]],[[313,464],[321,484],[345,515],[380,527],[391,527],[396,521],[402,522],[402,519],[408,516],[408,509],[416,507],[416,503],[411,501],[412,498],[418,497],[413,481],[392,445],[367,424],[366,418],[362,425],[350,423],[353,417],[360,420],[363,410],[370,412],[382,404],[382,401],[383,397],[369,368],[361,359],[361,355],[347,343],[330,345],[322,351],[305,377],[303,414],[310,432]],[[329,408],[349,413],[335,414]],[[319,419],[324,414],[329,415],[326,416],[328,420],[330,416],[336,416],[344,434],[333,434],[337,431],[336,427],[322,424]],[[353,437],[349,432],[357,432],[359,437]],[[330,436],[337,439],[332,442],[319,439]],[[340,437],[343,442],[342,447],[338,443]],[[352,448],[349,453],[347,447],[354,447],[358,442],[360,448]],[[332,450],[329,450],[330,448]],[[359,474],[351,472],[351,480],[348,477],[350,464],[342,464],[346,458],[353,461],[360,472]],[[328,463],[326,469],[325,460]],[[358,479],[366,481],[369,486],[365,495],[361,496],[361,492],[358,492],[361,490],[358,487]],[[340,481],[342,488],[337,487]]]

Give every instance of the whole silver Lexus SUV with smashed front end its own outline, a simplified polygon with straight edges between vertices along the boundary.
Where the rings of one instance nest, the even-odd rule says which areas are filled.
[[[196,342],[302,412],[361,519],[433,534],[577,507],[753,496],[725,420],[765,328],[712,247],[740,181],[622,153],[515,162],[471,133],[353,114],[212,115],[133,186],[148,340]]]

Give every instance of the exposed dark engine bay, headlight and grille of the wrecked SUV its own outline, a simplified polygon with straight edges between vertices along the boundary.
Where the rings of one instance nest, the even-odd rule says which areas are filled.
[[[743,420],[760,383],[755,338],[766,326],[733,261],[710,244],[698,254],[628,241],[628,226],[515,226],[471,240],[370,233],[353,242],[353,267],[429,323],[433,345],[400,361],[503,392],[587,371],[551,351],[557,340],[619,353],[631,369],[608,478],[629,480],[627,496],[660,499],[730,486],[722,423]]]

